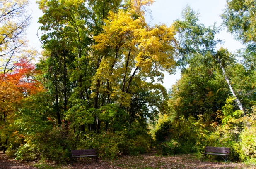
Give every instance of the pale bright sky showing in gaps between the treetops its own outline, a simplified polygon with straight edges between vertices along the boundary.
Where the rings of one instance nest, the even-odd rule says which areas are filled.
[[[200,12],[200,22],[205,26],[211,26],[213,23],[217,23],[220,26],[222,19],[220,15],[223,13],[225,8],[226,0],[155,0],[156,2],[150,6],[152,11],[152,19],[146,16],[146,21],[150,25],[155,25],[159,23],[167,24],[170,26],[174,20],[181,19],[181,11],[186,5],[189,5],[194,10]],[[43,13],[38,9],[36,0],[31,0],[29,5],[29,11],[32,14],[31,25],[27,29],[27,39],[29,40],[29,45],[40,51],[41,42],[37,38],[37,31],[40,26],[37,20]],[[41,32],[39,31],[39,37]],[[244,47],[240,42],[237,42],[232,38],[230,33],[224,29],[222,30],[216,38],[225,40],[225,43],[221,46],[227,48],[231,52],[235,52],[237,49]],[[217,49],[221,47],[217,46]],[[171,86],[181,77],[179,70],[176,70],[176,74],[169,75],[165,73],[164,77],[164,87],[170,89]]]

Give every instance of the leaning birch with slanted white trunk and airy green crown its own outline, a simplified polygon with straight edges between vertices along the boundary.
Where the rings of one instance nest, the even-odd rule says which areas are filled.
[[[200,63],[198,61],[204,61],[205,58],[211,57],[219,65],[237,106],[246,115],[242,103],[237,98],[225,70],[227,64],[232,63],[232,61],[234,62],[234,59],[223,48],[219,51],[215,50],[217,43],[221,42],[220,40],[215,40],[215,34],[218,33],[219,29],[214,25],[205,28],[203,24],[198,23],[198,16],[190,7],[186,7],[182,12],[184,21],[175,22],[177,31],[179,32],[181,64],[198,64]]]

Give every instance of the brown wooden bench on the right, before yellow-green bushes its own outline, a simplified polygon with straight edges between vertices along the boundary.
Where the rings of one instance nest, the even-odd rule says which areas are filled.
[[[211,153],[206,153],[211,152]],[[227,157],[230,154],[230,148],[227,147],[205,147],[205,153],[202,153],[204,155],[220,155],[225,162],[227,162]],[[225,158],[224,158],[225,157]]]

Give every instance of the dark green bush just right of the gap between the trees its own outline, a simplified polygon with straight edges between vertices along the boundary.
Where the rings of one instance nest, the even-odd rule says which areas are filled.
[[[159,125],[155,132],[157,147],[163,155],[179,153],[194,153],[204,146],[208,131],[201,120],[184,117],[171,121],[165,121]]]

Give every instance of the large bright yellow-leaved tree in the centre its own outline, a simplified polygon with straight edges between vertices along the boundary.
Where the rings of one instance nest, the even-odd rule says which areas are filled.
[[[174,28],[146,23],[142,7],[152,2],[132,0],[126,9],[110,12],[102,33],[94,36],[94,54],[101,55],[92,77],[94,108],[99,103],[126,108],[130,125],[140,111],[133,108],[138,101],[158,109],[167,105],[167,92],[155,80],[162,82],[164,71],[175,71]]]

